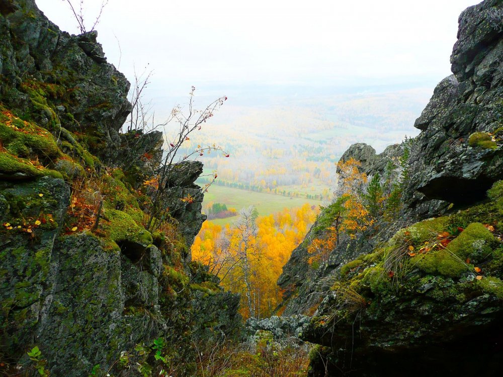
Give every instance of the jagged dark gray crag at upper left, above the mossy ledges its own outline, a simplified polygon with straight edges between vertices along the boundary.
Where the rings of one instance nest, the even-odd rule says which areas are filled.
[[[86,132],[94,138],[90,150],[107,161],[116,158],[118,130],[131,111],[129,82],[106,63],[97,32],[60,31],[34,0],[0,4],[4,104],[54,132],[61,126]]]

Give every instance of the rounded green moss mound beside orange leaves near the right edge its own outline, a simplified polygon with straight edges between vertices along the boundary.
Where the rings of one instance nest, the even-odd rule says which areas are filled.
[[[448,246],[450,252],[461,260],[470,258],[481,262],[492,252],[496,239],[482,224],[471,223]]]

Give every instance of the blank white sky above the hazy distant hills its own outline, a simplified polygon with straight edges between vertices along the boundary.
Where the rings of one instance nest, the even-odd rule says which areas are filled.
[[[36,0],[62,30],[65,0]],[[78,6],[78,0],[73,0]],[[101,0],[84,0],[88,28]],[[97,27],[128,78],[154,70],[156,88],[440,81],[450,73],[457,19],[474,0],[110,0]],[[119,51],[122,50],[122,54]]]

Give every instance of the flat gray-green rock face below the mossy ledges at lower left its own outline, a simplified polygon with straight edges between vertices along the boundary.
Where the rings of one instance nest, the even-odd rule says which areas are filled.
[[[9,309],[0,313],[2,333],[10,335],[2,340],[6,354],[37,344],[51,360],[52,374],[80,376],[166,330],[160,313],[154,321],[145,311],[128,312],[129,306],[158,312],[163,267],[155,246],[145,248],[149,268],[143,269],[91,234],[61,237],[70,199],[61,179],[2,182],[0,193],[6,204],[0,222],[14,226],[2,226],[0,237],[0,301]]]

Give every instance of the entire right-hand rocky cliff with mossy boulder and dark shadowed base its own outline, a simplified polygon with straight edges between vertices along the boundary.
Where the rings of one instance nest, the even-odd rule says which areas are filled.
[[[341,232],[327,259],[313,267],[312,240],[336,224],[329,206],[285,265],[281,310],[312,315],[302,336],[321,345],[311,375],[500,373],[501,25],[501,0],[466,9],[453,75],[437,85],[416,120],[421,134],[379,155],[356,144],[342,157],[339,166],[358,160],[359,173],[378,174],[382,185],[387,166],[398,166],[401,207],[399,216]]]

